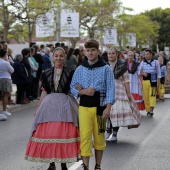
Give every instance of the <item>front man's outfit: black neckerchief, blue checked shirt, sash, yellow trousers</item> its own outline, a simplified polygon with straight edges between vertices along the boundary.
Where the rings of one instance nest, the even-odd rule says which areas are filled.
[[[106,141],[104,133],[106,121],[102,118],[106,105],[115,102],[115,85],[113,72],[101,58],[91,64],[84,59],[73,76],[71,93],[78,98],[79,90],[75,88],[81,84],[83,89],[95,88],[93,96],[80,96],[79,104],[79,127],[81,156],[92,156],[92,144],[95,150],[104,150]],[[93,136],[93,141],[92,141]]]

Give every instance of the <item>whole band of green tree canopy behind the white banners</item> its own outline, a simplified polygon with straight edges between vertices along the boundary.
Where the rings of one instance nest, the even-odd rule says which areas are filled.
[[[105,28],[116,27],[120,48],[127,43],[127,33],[136,34],[137,46],[170,46],[170,8],[129,15],[126,11],[132,9],[123,7],[120,0],[0,0],[0,39],[31,42],[37,18],[59,9],[79,13],[80,34],[84,37],[96,38],[96,31],[100,31],[98,38],[102,38]],[[73,46],[79,39],[69,38]]]

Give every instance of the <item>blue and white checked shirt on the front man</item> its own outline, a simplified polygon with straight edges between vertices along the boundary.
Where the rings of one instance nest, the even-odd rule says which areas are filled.
[[[81,84],[83,89],[93,87],[96,91],[99,91],[100,106],[115,103],[114,75],[108,65],[95,67],[93,69],[79,66],[73,75],[70,85],[71,93],[76,98],[78,98],[79,95],[79,90],[75,88],[77,84]]]

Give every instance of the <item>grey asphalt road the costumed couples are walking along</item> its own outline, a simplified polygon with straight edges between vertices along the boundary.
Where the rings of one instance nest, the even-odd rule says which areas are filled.
[[[6,122],[0,122],[0,170],[47,169],[47,164],[24,160],[35,109],[14,112]],[[170,99],[157,102],[153,118],[142,112],[139,128],[122,128],[117,143],[107,142],[102,170],[170,170]]]

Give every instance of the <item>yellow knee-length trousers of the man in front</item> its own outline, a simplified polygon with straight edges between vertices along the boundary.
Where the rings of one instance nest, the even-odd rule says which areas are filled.
[[[92,156],[93,147],[96,150],[104,150],[106,141],[104,133],[98,133],[97,108],[79,106],[80,150],[81,156]]]

